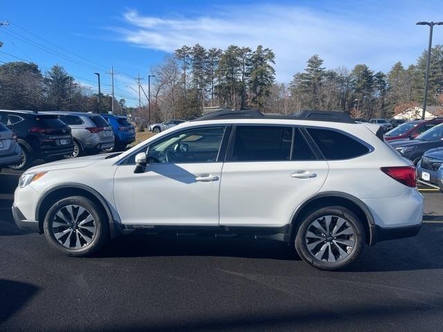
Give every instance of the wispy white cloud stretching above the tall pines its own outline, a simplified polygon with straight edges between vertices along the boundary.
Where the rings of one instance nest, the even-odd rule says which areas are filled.
[[[415,27],[417,13],[409,9],[401,12],[393,6],[381,12],[377,6],[359,6],[351,12],[260,4],[215,8],[197,17],[144,16],[128,10],[123,15],[127,27],[114,30],[125,42],[168,53],[184,44],[262,44],[275,52],[277,79],[288,82],[314,54],[325,59],[327,68],[365,63],[386,71],[399,60],[414,62],[426,47],[426,31]]]

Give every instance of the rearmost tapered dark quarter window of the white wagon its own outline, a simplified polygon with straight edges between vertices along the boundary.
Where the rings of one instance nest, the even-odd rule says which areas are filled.
[[[361,142],[338,131],[317,128],[307,128],[307,131],[329,160],[356,158],[370,151]]]

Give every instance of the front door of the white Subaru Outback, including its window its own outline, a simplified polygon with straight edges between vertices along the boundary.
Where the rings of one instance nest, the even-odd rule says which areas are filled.
[[[181,129],[152,142],[141,174],[134,174],[134,155],[123,160],[114,178],[121,221],[218,225],[225,131],[225,126]]]

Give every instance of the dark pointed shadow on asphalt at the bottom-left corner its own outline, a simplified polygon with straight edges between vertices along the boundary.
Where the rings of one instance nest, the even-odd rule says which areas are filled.
[[[0,279],[0,324],[24,306],[37,291],[37,286],[25,282]]]

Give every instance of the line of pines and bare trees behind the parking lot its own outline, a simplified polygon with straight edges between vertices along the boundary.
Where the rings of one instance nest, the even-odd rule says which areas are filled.
[[[270,48],[228,46],[206,49],[182,46],[151,68],[152,120],[194,118],[205,107],[259,109],[266,113],[294,113],[303,109],[336,110],[356,118],[390,118],[419,105],[424,93],[426,51],[417,62],[401,62],[390,71],[374,72],[366,64],[354,68],[326,68],[319,55],[289,83],[275,82],[275,54]],[[102,93],[102,111],[112,98]],[[433,47],[428,103],[443,104],[443,46]],[[9,62],[0,66],[0,107],[98,112],[98,93],[84,87],[55,65],[42,74],[37,64]],[[117,113],[134,113],[125,99],[114,100]],[[146,107],[142,115],[147,116]]]

